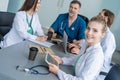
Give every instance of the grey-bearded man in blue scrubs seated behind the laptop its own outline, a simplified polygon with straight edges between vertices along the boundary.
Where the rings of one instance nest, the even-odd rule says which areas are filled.
[[[73,43],[83,42],[85,40],[86,22],[78,16],[81,3],[72,1],[69,7],[69,13],[60,14],[55,22],[49,28],[53,32],[53,38],[57,35],[63,36],[64,31],[68,35],[68,41]]]

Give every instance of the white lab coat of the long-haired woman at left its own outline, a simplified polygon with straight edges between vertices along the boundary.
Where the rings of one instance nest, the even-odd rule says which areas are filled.
[[[31,16],[28,15],[29,21],[30,21],[30,18]],[[33,14],[32,28],[36,35],[38,36],[44,35],[37,13]],[[12,29],[4,36],[4,41],[1,42],[1,47],[4,48],[4,47],[11,46],[13,44],[23,41],[24,39],[35,40],[37,36],[29,34],[27,32],[28,29],[29,27],[26,20],[26,12],[18,11],[14,18]]]

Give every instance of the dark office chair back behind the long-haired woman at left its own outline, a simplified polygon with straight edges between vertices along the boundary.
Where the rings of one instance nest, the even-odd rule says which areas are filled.
[[[0,42],[4,40],[4,35],[12,28],[15,13],[0,11]]]

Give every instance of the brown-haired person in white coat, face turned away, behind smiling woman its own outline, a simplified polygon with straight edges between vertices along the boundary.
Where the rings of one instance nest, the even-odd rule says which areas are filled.
[[[104,80],[105,75],[103,75],[102,72],[108,73],[109,70],[111,69],[112,66],[110,64],[112,60],[112,55],[116,48],[114,34],[109,29],[114,20],[114,13],[108,9],[103,9],[98,16],[103,17],[107,22],[107,31],[104,38],[101,40],[101,46],[102,46],[104,57],[105,57],[104,64],[101,69],[101,74],[97,79],[97,80]]]

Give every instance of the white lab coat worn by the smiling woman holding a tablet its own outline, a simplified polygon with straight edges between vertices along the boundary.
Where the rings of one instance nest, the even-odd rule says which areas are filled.
[[[96,80],[104,61],[102,47],[100,46],[100,43],[86,49],[87,46],[87,43],[84,43],[84,45],[82,46],[80,54],[78,55],[81,55],[79,59],[78,56],[62,58],[63,64],[76,64],[76,66],[75,76],[66,74],[62,70],[59,70],[58,77],[60,78],[60,80]],[[78,61],[76,63],[77,59]]]

